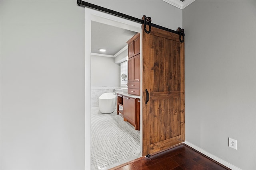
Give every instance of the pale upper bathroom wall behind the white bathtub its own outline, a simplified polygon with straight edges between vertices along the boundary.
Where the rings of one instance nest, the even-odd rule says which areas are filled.
[[[92,86],[120,86],[120,64],[112,57],[91,57]]]

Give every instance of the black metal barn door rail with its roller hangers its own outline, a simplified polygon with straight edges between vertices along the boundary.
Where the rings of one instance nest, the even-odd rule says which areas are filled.
[[[143,18],[141,20],[141,19],[138,19],[138,18],[135,18],[135,17],[132,17],[132,16],[128,16],[126,14],[122,14],[120,12],[116,12],[116,11],[110,10],[108,8],[104,8],[104,7],[101,7],[101,6],[98,6],[98,5],[94,5],[94,4],[91,4],[89,2],[84,2],[82,0],[77,0],[76,3],[78,4],[78,6],[82,5],[82,6],[85,6],[85,7],[88,7],[88,8],[92,8],[94,10],[99,10],[99,11],[102,11],[102,12],[106,12],[108,14],[112,14],[114,16],[118,16],[118,17],[121,17],[121,18],[125,18],[125,19],[128,19],[128,20],[135,21],[137,23],[144,24],[144,31],[146,33],[150,33],[151,27],[156,27],[156,28],[168,31],[168,32],[176,33],[176,34],[178,34],[180,36],[180,42],[184,42],[184,36],[185,36],[184,29],[181,29],[180,27],[177,29],[177,31],[174,31],[172,29],[169,29],[169,28],[166,28],[166,27],[162,27],[160,25],[156,25],[156,24],[152,23],[151,22],[151,18],[147,17],[145,15],[143,16]],[[146,25],[149,25],[149,29],[148,30],[146,29]]]

